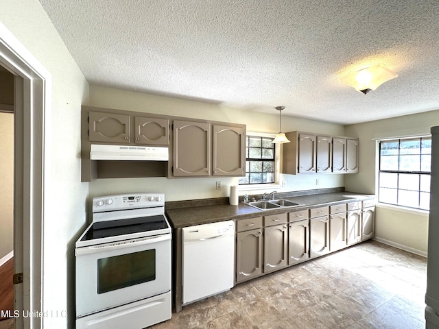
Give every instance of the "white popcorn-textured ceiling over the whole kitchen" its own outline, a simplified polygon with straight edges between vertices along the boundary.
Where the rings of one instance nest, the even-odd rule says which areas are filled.
[[[40,0],[90,84],[359,123],[439,109],[438,0]],[[339,77],[381,63],[368,95]]]

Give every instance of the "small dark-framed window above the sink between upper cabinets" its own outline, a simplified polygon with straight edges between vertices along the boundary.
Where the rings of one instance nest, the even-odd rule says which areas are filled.
[[[246,136],[246,176],[239,185],[274,183],[274,138]]]

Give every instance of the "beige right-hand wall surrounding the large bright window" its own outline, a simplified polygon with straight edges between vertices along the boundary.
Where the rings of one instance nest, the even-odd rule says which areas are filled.
[[[378,138],[416,136],[430,133],[439,124],[439,110],[392,119],[346,126],[346,134],[360,140],[359,173],[346,176],[348,191],[375,193],[376,149]],[[377,239],[403,249],[427,254],[428,215],[378,206]]]

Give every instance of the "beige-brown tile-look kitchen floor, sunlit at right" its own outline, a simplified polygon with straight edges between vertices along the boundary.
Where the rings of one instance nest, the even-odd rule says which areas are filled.
[[[423,329],[427,258],[376,241],[184,306],[169,328]]]

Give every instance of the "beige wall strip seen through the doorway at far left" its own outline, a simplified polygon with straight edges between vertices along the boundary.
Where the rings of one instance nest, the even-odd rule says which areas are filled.
[[[0,112],[0,259],[14,249],[14,114]]]

